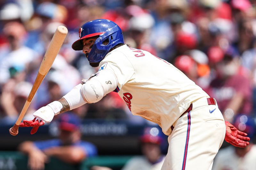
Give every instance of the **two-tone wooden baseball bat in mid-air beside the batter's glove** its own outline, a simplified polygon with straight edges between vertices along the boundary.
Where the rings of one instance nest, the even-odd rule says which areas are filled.
[[[34,85],[31,89],[29,95],[28,95],[28,99],[27,99],[25,105],[23,106],[16,123],[12,126],[12,128],[9,129],[9,132],[11,135],[15,136],[18,134],[20,122],[23,119],[25,113],[27,112],[28,107],[29,107],[32,99],[34,98],[38,87],[44,80],[44,77],[46,76],[46,74],[48,73],[50,68],[52,67],[52,63],[55,60],[57,54],[59,53],[60,48],[61,48],[67,34],[68,34],[68,29],[65,26],[58,26],[58,28],[56,29],[56,31],[52,37],[52,41],[50,42],[50,45],[45,52],[43,61],[40,65],[40,68],[39,68],[37,76],[36,76],[36,80],[34,82]]]

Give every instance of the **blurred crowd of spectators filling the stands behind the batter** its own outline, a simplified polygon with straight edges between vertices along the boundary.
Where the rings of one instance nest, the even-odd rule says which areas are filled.
[[[249,117],[255,123],[256,0],[2,0],[1,123],[17,120],[58,26],[66,26],[68,35],[24,119],[98,70],[71,48],[79,28],[98,18],[116,22],[126,44],[184,72],[217,100],[225,120],[248,117],[239,119],[242,131]],[[149,123],[133,116],[115,92],[72,112],[81,119]]]

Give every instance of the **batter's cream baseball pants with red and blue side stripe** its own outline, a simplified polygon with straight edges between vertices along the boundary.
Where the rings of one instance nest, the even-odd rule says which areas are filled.
[[[226,133],[217,103],[208,105],[206,97],[194,101],[173,126],[161,170],[211,170]]]

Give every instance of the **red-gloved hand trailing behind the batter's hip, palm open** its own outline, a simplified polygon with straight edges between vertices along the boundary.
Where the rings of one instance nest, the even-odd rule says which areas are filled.
[[[225,136],[225,140],[236,146],[236,147],[240,147],[240,148],[244,148],[247,145],[249,145],[249,137],[246,137],[247,134],[244,132],[241,132],[239,130],[236,129],[235,126],[233,126],[231,123],[225,121],[225,125],[226,125],[226,136]]]

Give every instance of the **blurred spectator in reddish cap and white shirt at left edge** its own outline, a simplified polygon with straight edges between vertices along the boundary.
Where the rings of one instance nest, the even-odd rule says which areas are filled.
[[[3,32],[8,44],[0,51],[0,85],[11,78],[11,68],[25,70],[38,57],[35,51],[23,45],[26,30],[22,24],[10,22],[4,26]]]

